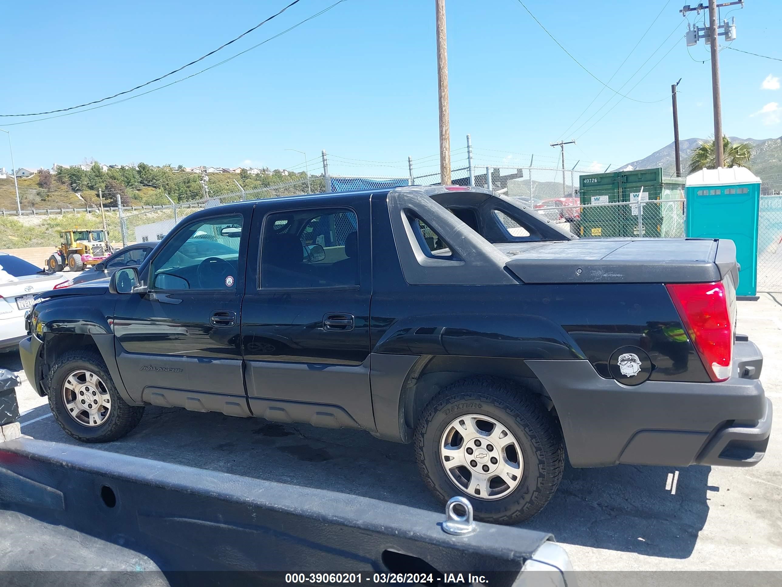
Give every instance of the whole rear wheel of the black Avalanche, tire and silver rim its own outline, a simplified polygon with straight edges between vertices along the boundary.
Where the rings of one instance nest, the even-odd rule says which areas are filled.
[[[543,509],[565,466],[558,424],[532,394],[472,377],[445,387],[415,430],[418,469],[440,502],[465,495],[475,519],[518,524]]]

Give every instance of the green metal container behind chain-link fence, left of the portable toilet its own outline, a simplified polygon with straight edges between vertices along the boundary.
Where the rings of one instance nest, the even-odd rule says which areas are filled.
[[[639,230],[639,201],[683,199],[684,180],[663,178],[662,167],[582,175],[579,183],[581,204],[584,206],[580,236],[683,236],[683,207],[680,203],[644,204]],[[630,205],[592,207],[592,204],[620,202]]]

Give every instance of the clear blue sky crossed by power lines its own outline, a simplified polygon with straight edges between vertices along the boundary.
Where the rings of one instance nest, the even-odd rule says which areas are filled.
[[[302,0],[171,79],[247,49],[333,2]],[[203,55],[287,3],[8,4],[0,36],[6,72],[0,113],[52,110],[120,92]],[[576,59],[606,82],[666,4],[525,3]],[[622,99],[602,117],[615,98],[581,126],[612,96],[604,90],[565,135],[577,139],[567,152],[569,167],[575,160],[595,168],[616,167],[673,140],[670,85],[680,77],[682,138],[712,134],[711,73],[708,61],[701,63],[708,50],[701,41],[688,54],[682,38],[687,23],[678,12],[682,4],[667,3],[609,84],[619,89],[651,56],[621,91],[635,99],[662,101]],[[723,9],[723,16],[728,10]],[[748,0],[730,16],[736,16],[738,29],[733,47],[782,57],[776,42],[782,2]],[[554,164],[557,153],[549,143],[576,121],[600,83],[573,63],[516,0],[447,0],[447,23],[452,148],[464,147],[470,133],[479,163],[526,165],[529,157],[517,153],[536,153],[540,164]],[[726,134],[755,139],[782,135],[777,79],[782,78],[782,62],[726,49],[720,66]],[[29,119],[0,118],[0,128],[12,132],[19,167],[94,158],[105,163],[294,168],[303,157],[285,149],[306,151],[310,159],[326,149],[332,173],[407,175],[408,156],[417,160],[417,169],[436,171],[437,160],[430,157],[438,151],[436,88],[432,0],[346,0],[288,34],[170,88],[31,124],[10,126],[4,123]],[[455,164],[461,157],[464,150],[454,153]],[[0,142],[2,166],[11,167],[5,140]]]

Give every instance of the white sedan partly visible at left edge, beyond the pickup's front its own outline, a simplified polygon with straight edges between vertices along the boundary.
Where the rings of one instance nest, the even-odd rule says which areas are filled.
[[[35,297],[66,283],[63,273],[45,272],[19,257],[0,253],[0,352],[16,348],[27,337],[24,315]]]

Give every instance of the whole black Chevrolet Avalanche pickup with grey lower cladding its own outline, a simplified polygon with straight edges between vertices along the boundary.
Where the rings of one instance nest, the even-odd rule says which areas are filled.
[[[443,502],[533,516],[572,466],[752,466],[772,408],[730,240],[576,239],[482,189],[212,207],[138,268],[45,294],[20,344],[63,430],[147,404],[414,443]]]

